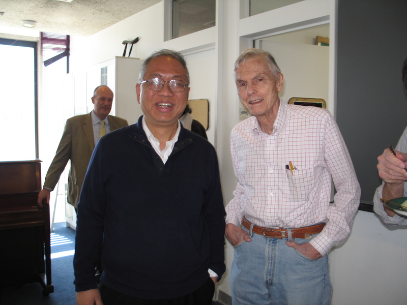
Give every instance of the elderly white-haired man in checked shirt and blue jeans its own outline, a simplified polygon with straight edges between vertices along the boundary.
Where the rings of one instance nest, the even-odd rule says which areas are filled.
[[[326,109],[278,97],[283,75],[268,52],[243,52],[235,80],[253,116],[230,134],[238,178],[226,206],[232,303],[329,304],[328,252],[350,233],[360,199],[338,126]]]

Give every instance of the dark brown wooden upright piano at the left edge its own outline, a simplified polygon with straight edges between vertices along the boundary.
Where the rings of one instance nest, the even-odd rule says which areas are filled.
[[[2,286],[51,284],[49,204],[37,204],[41,161],[0,162],[0,281]]]

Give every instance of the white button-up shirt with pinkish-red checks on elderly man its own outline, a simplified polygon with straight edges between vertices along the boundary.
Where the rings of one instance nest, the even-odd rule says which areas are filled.
[[[238,185],[226,206],[226,223],[240,226],[243,217],[268,228],[326,222],[310,241],[322,255],[350,233],[360,186],[328,110],[280,99],[273,133],[262,132],[252,116],[232,129],[230,149]],[[331,178],[337,192],[333,203]]]

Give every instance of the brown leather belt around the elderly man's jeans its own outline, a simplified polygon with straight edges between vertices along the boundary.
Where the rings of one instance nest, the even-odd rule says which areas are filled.
[[[243,218],[242,225],[246,229],[250,230],[251,223],[246,218]],[[325,223],[320,223],[309,227],[291,229],[291,237],[309,239],[312,237],[311,236],[312,234],[321,232],[322,229],[324,229],[325,225],[326,225]],[[265,237],[275,237],[279,239],[288,237],[288,230],[283,228],[273,229],[253,225],[253,232],[259,235],[263,235]]]

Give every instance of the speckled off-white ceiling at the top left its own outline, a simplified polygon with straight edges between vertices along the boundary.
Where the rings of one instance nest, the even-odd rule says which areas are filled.
[[[23,27],[22,20],[34,20],[37,24],[32,31],[91,36],[158,2],[161,0],[0,0],[0,33],[13,33]]]

